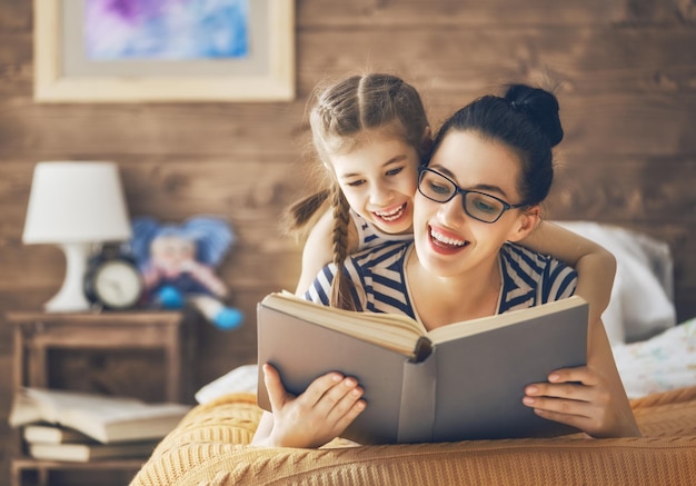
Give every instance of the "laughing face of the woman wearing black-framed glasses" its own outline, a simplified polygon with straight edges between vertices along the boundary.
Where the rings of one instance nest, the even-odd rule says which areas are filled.
[[[428,166],[451,179],[460,189],[495,196],[509,205],[520,204],[517,180],[520,161],[499,142],[471,131],[447,133]],[[414,238],[424,267],[440,277],[450,277],[496,264],[505,241],[517,241],[536,224],[537,212],[509,209],[493,224],[465,212],[463,196],[447,202],[432,201],[420,192],[415,197]]]

